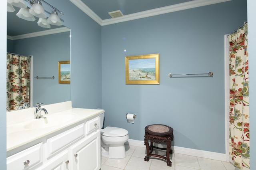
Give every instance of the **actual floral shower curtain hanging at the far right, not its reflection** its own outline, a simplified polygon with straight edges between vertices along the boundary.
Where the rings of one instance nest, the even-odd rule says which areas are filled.
[[[229,153],[239,170],[250,169],[249,77],[247,23],[228,36],[230,44]]]

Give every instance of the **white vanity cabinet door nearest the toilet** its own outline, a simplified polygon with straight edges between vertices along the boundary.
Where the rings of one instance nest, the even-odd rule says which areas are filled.
[[[70,168],[72,170],[100,169],[100,130],[70,148]]]

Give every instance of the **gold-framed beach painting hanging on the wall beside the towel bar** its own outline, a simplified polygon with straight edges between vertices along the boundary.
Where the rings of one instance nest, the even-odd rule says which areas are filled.
[[[125,57],[126,84],[159,84],[159,54]]]

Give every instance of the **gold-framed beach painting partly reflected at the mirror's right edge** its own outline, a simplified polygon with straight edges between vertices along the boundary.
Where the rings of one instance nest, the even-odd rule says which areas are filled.
[[[58,61],[60,84],[70,84],[70,61]]]

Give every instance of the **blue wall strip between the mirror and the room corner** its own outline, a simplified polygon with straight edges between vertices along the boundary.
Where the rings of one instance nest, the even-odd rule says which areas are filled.
[[[71,101],[73,107],[96,109],[101,99],[101,26],[70,1],[54,0],[71,29]]]

